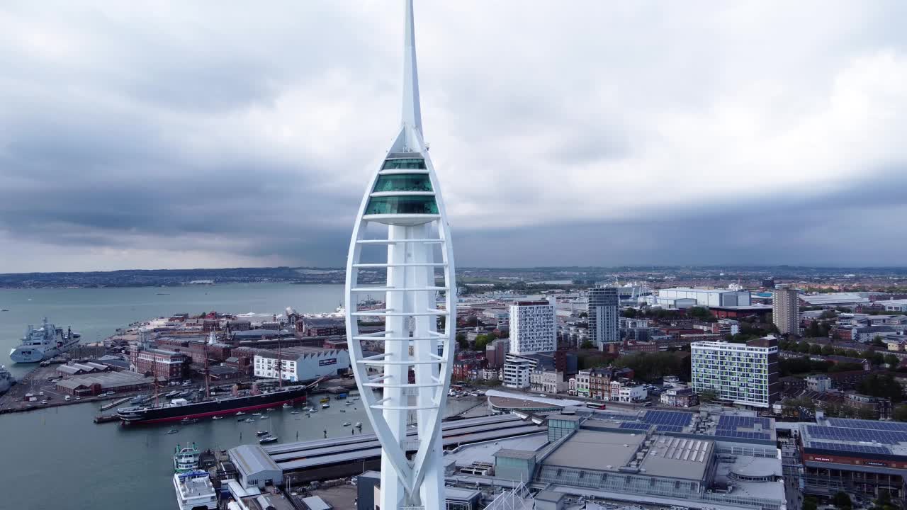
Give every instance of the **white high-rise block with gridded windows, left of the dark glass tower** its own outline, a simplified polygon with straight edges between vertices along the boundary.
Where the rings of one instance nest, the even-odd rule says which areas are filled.
[[[514,301],[510,353],[534,354],[558,348],[555,314],[555,306],[549,301]]]

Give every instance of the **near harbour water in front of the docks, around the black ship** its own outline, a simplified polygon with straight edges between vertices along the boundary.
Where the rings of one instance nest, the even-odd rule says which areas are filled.
[[[226,417],[149,427],[95,425],[92,418],[100,407],[96,403],[0,416],[5,459],[0,476],[7,487],[15,487],[5,491],[0,507],[175,508],[171,476],[177,443],[195,441],[202,449],[230,448],[255,442],[256,430],[270,431],[280,443],[295,441],[297,433],[299,440],[320,439],[325,430],[328,437],[350,436],[356,422],[362,422],[362,432],[367,434],[371,427],[360,404],[332,401],[330,408],[311,417],[292,415],[278,407],[267,413],[269,419],[256,419],[255,423]],[[475,404],[473,398],[452,400],[448,413]],[[344,422],[353,426],[344,427]],[[171,427],[180,432],[167,434]]]

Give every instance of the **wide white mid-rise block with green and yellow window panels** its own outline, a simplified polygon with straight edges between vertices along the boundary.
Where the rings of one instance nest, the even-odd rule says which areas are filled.
[[[719,400],[750,407],[771,407],[781,392],[778,340],[756,338],[746,344],[690,344],[692,386],[697,393],[714,391]]]

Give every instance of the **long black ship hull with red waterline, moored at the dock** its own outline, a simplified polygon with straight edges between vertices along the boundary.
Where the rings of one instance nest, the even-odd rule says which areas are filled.
[[[247,397],[228,397],[193,402],[184,406],[165,407],[122,407],[117,415],[123,425],[145,425],[179,421],[183,418],[226,417],[239,411],[254,411],[267,407],[282,406],[288,402],[304,402],[306,387],[289,388]]]

